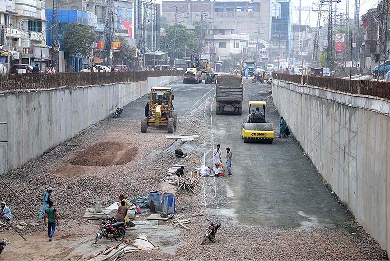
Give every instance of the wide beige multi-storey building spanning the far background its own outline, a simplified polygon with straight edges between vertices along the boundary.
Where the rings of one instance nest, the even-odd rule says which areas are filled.
[[[273,0],[235,0],[235,1],[163,1],[162,16],[168,25],[173,25],[177,9],[177,22],[194,30],[203,17],[203,28],[230,30],[257,39],[269,40],[272,10],[280,5]]]

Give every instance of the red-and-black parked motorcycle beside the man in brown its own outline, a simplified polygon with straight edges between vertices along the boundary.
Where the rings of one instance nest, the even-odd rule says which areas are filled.
[[[107,215],[108,216],[108,215]],[[101,238],[115,239],[121,241],[126,234],[126,223],[108,216],[107,221],[101,220],[98,233],[95,237],[95,244]]]

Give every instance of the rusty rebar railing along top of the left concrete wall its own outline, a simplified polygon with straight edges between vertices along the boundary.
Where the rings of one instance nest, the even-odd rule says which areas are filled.
[[[140,82],[146,81],[148,77],[179,76],[182,74],[183,71],[174,70],[110,73],[0,74],[0,93]]]

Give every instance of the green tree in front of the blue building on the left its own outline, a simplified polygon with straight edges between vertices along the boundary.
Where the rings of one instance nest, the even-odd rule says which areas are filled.
[[[69,23],[65,27],[62,45],[65,52],[71,56],[76,54],[87,56],[92,51],[95,41],[95,34],[88,26]]]

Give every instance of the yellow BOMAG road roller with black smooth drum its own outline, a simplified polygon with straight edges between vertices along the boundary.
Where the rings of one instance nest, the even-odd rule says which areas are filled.
[[[254,141],[272,143],[274,137],[273,124],[266,123],[265,101],[249,101],[247,122],[241,126],[241,136],[244,143]],[[262,110],[260,109],[262,107]]]

